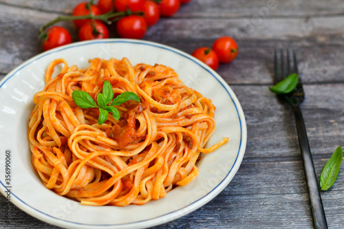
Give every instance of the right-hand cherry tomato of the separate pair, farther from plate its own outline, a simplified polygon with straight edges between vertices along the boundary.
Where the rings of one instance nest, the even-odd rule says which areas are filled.
[[[222,36],[213,43],[213,50],[219,57],[220,63],[230,63],[237,56],[238,47],[235,40],[229,36]]]

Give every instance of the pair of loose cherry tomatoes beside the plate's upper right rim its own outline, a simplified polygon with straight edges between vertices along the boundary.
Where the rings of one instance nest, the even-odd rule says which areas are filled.
[[[193,56],[209,67],[216,70],[219,63],[230,63],[237,56],[238,47],[235,40],[229,36],[217,39],[213,46],[199,47],[193,52]]]

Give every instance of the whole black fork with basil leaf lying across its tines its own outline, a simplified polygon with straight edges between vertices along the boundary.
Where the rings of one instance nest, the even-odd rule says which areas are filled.
[[[290,61],[290,51],[286,50],[287,60],[284,61],[284,52],[281,50],[281,66],[279,66],[277,50],[275,50],[275,83],[279,83],[281,80],[286,78],[288,75],[296,73],[299,75],[299,69],[297,67],[297,56],[295,50],[292,50],[292,63]],[[293,65],[293,66],[292,66]],[[303,168],[305,170],[305,178],[307,182],[308,195],[310,198],[310,206],[312,209],[312,216],[314,221],[314,228],[327,228],[327,222],[325,212],[323,210],[323,203],[321,201],[319,185],[316,179],[316,173],[314,170],[314,164],[312,160],[312,154],[310,152],[310,144],[308,143],[307,132],[305,130],[305,122],[301,109],[300,103],[305,99],[305,93],[303,91],[301,78],[294,91],[289,94],[277,96],[283,104],[288,103],[292,107],[294,113],[294,119],[297,125],[297,135],[299,137],[299,146],[302,155]]]

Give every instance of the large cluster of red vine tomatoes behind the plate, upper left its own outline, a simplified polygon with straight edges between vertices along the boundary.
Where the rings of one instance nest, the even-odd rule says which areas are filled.
[[[171,17],[180,9],[182,3],[191,0],[99,0],[97,5],[89,2],[79,3],[73,10],[73,17],[94,15],[99,19],[73,20],[78,28],[80,41],[109,38],[109,30],[104,19],[115,19],[118,36],[128,39],[142,39],[147,28],[158,22],[160,17]],[[111,12],[114,12],[111,14]],[[110,18],[111,15],[116,17]],[[71,17],[71,19],[73,19]],[[43,50],[72,43],[72,36],[61,26],[53,26],[46,31]]]

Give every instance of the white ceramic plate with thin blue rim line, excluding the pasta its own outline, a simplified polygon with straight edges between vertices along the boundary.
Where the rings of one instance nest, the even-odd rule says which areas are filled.
[[[229,142],[202,157],[200,175],[158,201],[143,206],[83,206],[43,186],[30,163],[27,140],[32,96],[43,89],[45,69],[55,58],[87,67],[89,58],[127,57],[132,65],[155,63],[175,69],[188,85],[211,98],[217,127],[208,146]],[[0,83],[0,190],[13,204],[47,223],[65,228],[147,228],[182,217],[211,201],[233,179],[246,148],[244,113],[233,91],[211,68],[180,50],[129,39],[86,41],[58,47],[26,61]],[[10,157],[6,156],[10,152]],[[10,179],[6,180],[6,161]],[[9,182],[9,183],[7,183]],[[8,187],[8,188],[6,188]],[[10,190],[10,192],[8,192]],[[228,212],[230,214],[230,212]]]

